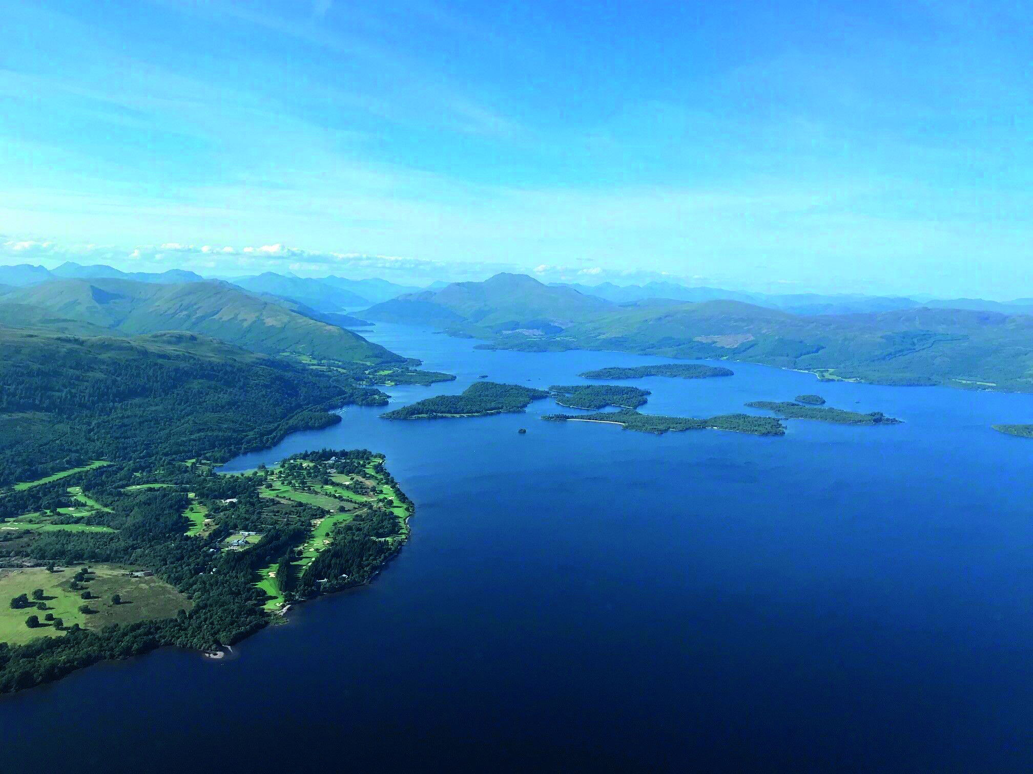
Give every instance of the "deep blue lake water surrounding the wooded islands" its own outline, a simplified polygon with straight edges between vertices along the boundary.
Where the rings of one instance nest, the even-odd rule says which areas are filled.
[[[616,353],[371,334],[459,382],[533,386]],[[646,379],[652,413],[818,392],[906,424],[654,437],[526,415],[350,408],[228,467],[367,447],[416,503],[367,588],[233,660],[163,650],[0,701],[0,771],[1022,771],[1033,765],[1033,396],[818,384],[734,364]],[[518,436],[527,427],[526,436]]]

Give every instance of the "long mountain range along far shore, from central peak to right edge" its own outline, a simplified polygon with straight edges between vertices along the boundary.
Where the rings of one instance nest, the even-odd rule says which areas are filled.
[[[743,360],[823,379],[1033,392],[1033,316],[1027,315],[930,307],[799,315],[738,300],[616,303],[499,275],[402,296],[364,316],[427,323],[431,313],[440,315],[432,324],[495,349],[617,350]]]

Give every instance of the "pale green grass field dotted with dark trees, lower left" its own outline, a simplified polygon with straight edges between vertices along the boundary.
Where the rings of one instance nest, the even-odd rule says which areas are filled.
[[[130,568],[118,565],[91,565],[93,580],[83,583],[91,594],[98,598],[83,600],[81,591],[68,588],[76,569],[48,573],[43,568],[0,570],[0,642],[22,644],[36,637],[62,637],[60,632],[43,621],[46,613],[61,618],[65,626],[77,623],[84,628],[100,630],[111,623],[134,623],[152,618],[171,618],[182,608],[189,610],[191,603],[164,581],[149,578],[126,577]],[[135,568],[133,568],[135,569]],[[21,593],[31,596],[34,588],[43,589],[48,610],[11,610],[9,601]],[[113,605],[112,594],[118,593],[123,604]],[[97,612],[88,615],[79,612],[87,604]],[[38,615],[38,628],[29,628],[25,619]]]

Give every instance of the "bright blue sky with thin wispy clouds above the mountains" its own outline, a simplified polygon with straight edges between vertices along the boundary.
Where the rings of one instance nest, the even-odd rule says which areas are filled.
[[[0,0],[0,261],[1033,296],[1031,11]]]

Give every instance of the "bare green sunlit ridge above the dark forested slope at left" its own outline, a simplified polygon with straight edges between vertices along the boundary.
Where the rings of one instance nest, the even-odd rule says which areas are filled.
[[[368,363],[404,361],[356,333],[217,281],[158,285],[128,280],[59,280],[5,295],[0,308],[7,310],[8,320],[18,318],[8,305],[14,303],[45,311],[56,319],[128,334],[185,330],[272,355]],[[27,318],[22,327],[38,324],[39,315]]]

